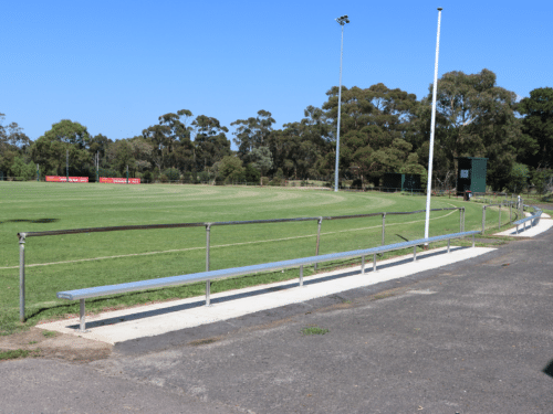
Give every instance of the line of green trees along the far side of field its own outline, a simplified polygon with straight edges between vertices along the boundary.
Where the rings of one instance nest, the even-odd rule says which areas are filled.
[[[418,173],[426,182],[431,88],[414,94],[378,83],[342,87],[340,179],[379,185],[386,172]],[[0,171],[31,179],[41,174],[131,177],[189,182],[273,182],[325,179],[333,182],[338,87],[321,107],[305,108],[301,120],[274,128],[268,110],[237,119],[232,137],[215,117],[180,109],[126,139],[92,136],[63,119],[32,141],[15,123],[0,125]],[[3,118],[3,114],[0,114]],[[231,150],[231,141],[237,150]],[[553,169],[553,88],[542,87],[517,102],[497,85],[495,74],[449,72],[438,81],[434,148],[435,182],[453,187],[458,157],[488,158],[487,182],[494,191],[544,191]],[[424,184],[426,187],[426,184]]]

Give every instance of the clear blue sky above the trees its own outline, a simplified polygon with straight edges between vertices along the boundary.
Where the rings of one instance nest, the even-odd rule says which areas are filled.
[[[32,140],[61,119],[128,138],[178,109],[231,130],[265,109],[281,127],[338,84],[342,14],[343,85],[420,99],[438,7],[438,76],[486,67],[521,97],[553,86],[551,1],[7,1],[0,113]]]

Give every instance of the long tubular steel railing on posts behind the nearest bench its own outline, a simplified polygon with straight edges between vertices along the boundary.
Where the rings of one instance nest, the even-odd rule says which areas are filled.
[[[445,208],[430,209],[430,211],[451,211],[459,210],[459,232],[465,231],[465,208]],[[212,226],[218,225],[237,225],[237,224],[265,224],[265,223],[286,223],[286,222],[304,222],[316,221],[316,246],[315,256],[319,256],[319,247],[321,243],[321,225],[324,220],[344,220],[344,219],[362,219],[382,215],[382,245],[386,242],[386,215],[405,215],[425,213],[426,210],[408,211],[408,212],[378,212],[368,214],[353,215],[334,215],[334,216],[317,216],[317,217],[296,217],[296,219],[268,219],[268,220],[247,220],[247,221],[230,221],[230,222],[199,222],[199,223],[174,223],[174,224],[142,224],[142,225],[123,225],[111,227],[87,227],[87,229],[69,229],[69,230],[51,230],[45,232],[21,232],[19,237],[19,317],[20,321],[25,320],[25,240],[27,237],[53,236],[62,234],[80,234],[80,233],[100,233],[100,232],[117,232],[127,230],[152,230],[152,229],[180,229],[180,227],[206,227],[206,272],[210,270],[210,233]],[[316,263],[315,263],[316,272]],[[206,282],[206,291],[209,298],[210,280]],[[208,304],[209,305],[209,304]]]

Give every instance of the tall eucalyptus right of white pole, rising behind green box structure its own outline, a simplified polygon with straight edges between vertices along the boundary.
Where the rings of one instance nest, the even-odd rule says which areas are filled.
[[[515,114],[517,94],[497,86],[495,78],[486,68],[444,74],[438,81],[436,136],[451,162],[457,157],[487,157],[488,182],[501,190],[518,149],[528,142]]]

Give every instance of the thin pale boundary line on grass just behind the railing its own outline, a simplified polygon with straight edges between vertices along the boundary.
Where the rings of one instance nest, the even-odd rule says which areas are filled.
[[[447,217],[448,215],[451,215],[453,213],[455,213],[455,211],[451,211],[451,212],[449,212],[449,213],[447,213],[445,215],[441,215],[439,217],[434,217],[434,219],[430,219],[430,220],[444,219],[444,217]],[[388,223],[388,224],[386,224],[386,226],[413,224],[413,223],[419,223],[419,222],[424,222],[424,221],[425,220],[415,220],[415,221],[411,221],[411,222],[404,222],[404,223]],[[337,234],[337,233],[347,233],[347,232],[361,232],[363,230],[379,229],[379,227],[382,227],[382,224],[380,225],[372,225],[369,227],[338,230],[338,231],[335,231],[335,232],[321,232],[321,235]],[[216,248],[216,247],[243,246],[243,245],[247,245],[247,244],[284,242],[284,241],[288,241],[288,240],[309,238],[309,237],[316,237],[316,234],[307,234],[307,235],[303,235],[303,236],[292,236],[292,237],[282,237],[282,238],[271,238],[271,240],[259,240],[259,241],[253,241],[253,242],[217,244],[217,245],[210,245],[209,247],[210,248]],[[92,257],[92,258],[77,258],[75,261],[35,263],[35,264],[25,265],[25,267],[52,266],[52,265],[63,265],[63,264],[69,264],[69,263],[104,261],[106,258],[122,258],[122,257],[133,257],[133,256],[148,256],[148,255],[153,255],[153,254],[189,252],[189,251],[198,251],[198,250],[205,250],[205,248],[206,248],[206,246],[201,246],[201,247],[186,247],[186,248],[173,248],[173,250],[169,250],[169,251],[157,251],[157,252],[145,252],[145,253],[129,253],[129,254],[121,254],[121,255],[115,255],[115,256],[101,256],[101,257]],[[15,269],[15,268],[19,268],[19,266],[0,267],[0,270],[1,269]]]

